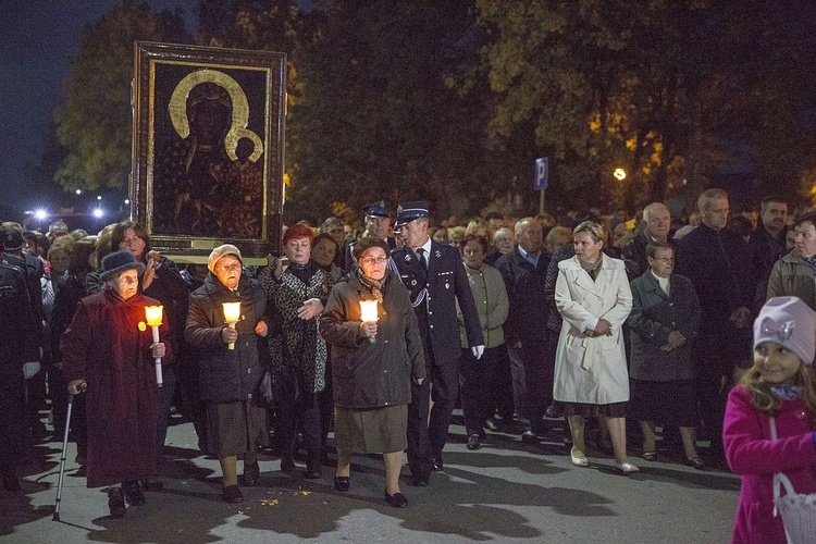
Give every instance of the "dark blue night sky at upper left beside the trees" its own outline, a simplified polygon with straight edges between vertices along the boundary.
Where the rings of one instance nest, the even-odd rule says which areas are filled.
[[[30,190],[46,131],[62,100],[62,82],[79,33],[120,0],[0,0],[0,219],[22,219],[42,203]],[[195,0],[149,0],[157,11],[180,8],[191,28]],[[12,217],[13,215],[13,217]],[[17,217],[20,215],[20,217]]]

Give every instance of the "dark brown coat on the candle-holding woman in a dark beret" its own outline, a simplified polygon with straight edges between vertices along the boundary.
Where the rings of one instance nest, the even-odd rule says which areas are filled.
[[[425,378],[422,338],[408,292],[387,271],[376,339],[360,336],[360,300],[374,297],[351,273],[329,294],[320,333],[332,348],[334,404],[364,409],[411,401],[411,378]]]

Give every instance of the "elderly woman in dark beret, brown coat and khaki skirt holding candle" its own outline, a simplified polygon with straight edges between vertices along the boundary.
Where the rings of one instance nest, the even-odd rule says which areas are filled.
[[[390,255],[380,238],[355,244],[357,265],[329,295],[320,332],[332,346],[334,486],[348,491],[353,452],[382,453],[385,499],[401,508],[408,504],[399,492],[399,471],[411,380],[422,383],[425,363],[408,292],[387,270]],[[363,317],[367,301],[376,304],[378,313]]]

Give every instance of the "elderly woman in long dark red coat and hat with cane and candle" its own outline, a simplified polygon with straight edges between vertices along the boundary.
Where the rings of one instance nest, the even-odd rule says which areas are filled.
[[[62,335],[69,392],[87,386],[88,487],[108,485],[111,517],[145,504],[140,481],[156,468],[159,391],[154,358],[169,359],[169,327],[153,344],[145,307],[159,302],[138,293],[145,265],[131,251],[102,259],[104,288],[85,297]]]

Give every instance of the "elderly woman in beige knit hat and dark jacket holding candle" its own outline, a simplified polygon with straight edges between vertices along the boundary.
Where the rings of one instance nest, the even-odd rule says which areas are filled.
[[[238,456],[244,456],[244,484],[255,485],[260,478],[258,445],[268,442],[267,410],[256,394],[263,375],[258,336],[269,333],[263,319],[267,294],[242,273],[240,251],[233,245],[213,249],[207,267],[205,284],[190,295],[184,337],[199,361],[207,449],[221,463],[222,498],[236,504],[244,500]],[[224,304],[234,302],[240,304],[237,321],[224,311]]]

